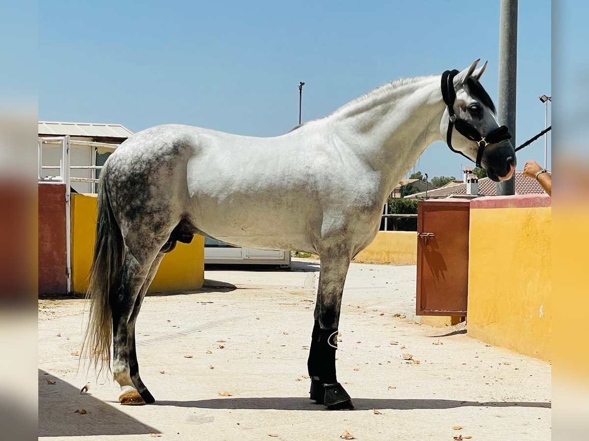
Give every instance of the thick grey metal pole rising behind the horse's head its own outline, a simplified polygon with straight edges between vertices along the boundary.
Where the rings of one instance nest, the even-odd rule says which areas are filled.
[[[517,0],[501,0],[499,24],[499,124],[509,127],[515,142],[515,88],[517,81]],[[497,195],[515,195],[515,173],[497,183]]]

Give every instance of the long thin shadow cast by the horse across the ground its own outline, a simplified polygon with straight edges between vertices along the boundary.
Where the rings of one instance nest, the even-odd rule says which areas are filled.
[[[521,401],[457,401],[438,399],[372,399],[353,398],[356,410],[370,409],[454,409],[455,407],[544,407],[551,408],[549,402]],[[256,398],[218,398],[197,401],[157,401],[158,406],[198,407],[200,409],[263,409],[263,410],[326,410],[325,406],[317,405],[308,398],[301,397],[256,397]]]

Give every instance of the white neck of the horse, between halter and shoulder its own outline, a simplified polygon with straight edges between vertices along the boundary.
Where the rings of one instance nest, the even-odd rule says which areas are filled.
[[[350,148],[382,173],[387,190],[398,184],[428,145],[441,139],[445,105],[439,81],[439,76],[428,76],[392,83],[330,116]]]

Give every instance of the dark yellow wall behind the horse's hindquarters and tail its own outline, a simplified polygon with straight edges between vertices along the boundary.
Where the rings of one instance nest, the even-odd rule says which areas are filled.
[[[71,249],[72,290],[85,293],[94,250],[96,195],[72,194]],[[204,282],[204,238],[194,236],[191,243],[179,243],[167,253],[148,292],[200,289]]]

